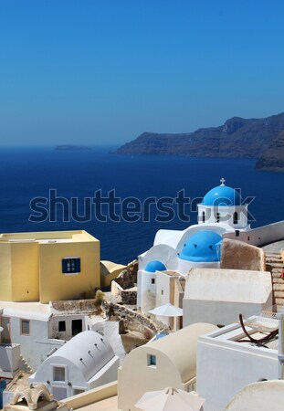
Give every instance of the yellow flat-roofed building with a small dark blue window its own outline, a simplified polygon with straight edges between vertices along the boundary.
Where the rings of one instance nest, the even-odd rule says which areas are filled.
[[[86,231],[0,235],[0,300],[73,299],[100,287],[100,241]]]

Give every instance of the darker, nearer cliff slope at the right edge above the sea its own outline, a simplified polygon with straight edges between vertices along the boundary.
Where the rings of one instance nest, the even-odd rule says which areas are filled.
[[[261,170],[284,172],[284,131],[279,132],[257,162]]]

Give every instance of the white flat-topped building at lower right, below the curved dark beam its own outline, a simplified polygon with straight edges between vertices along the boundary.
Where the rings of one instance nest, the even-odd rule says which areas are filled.
[[[259,340],[278,325],[277,320],[250,317],[246,330]],[[249,341],[240,324],[234,323],[198,339],[196,391],[206,398],[205,411],[223,410],[246,385],[278,377],[277,337],[257,345]]]

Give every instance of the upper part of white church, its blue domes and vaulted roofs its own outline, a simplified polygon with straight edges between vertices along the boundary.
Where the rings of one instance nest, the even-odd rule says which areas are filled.
[[[194,267],[219,267],[223,235],[239,236],[250,230],[247,205],[241,204],[237,190],[226,186],[223,178],[197,206],[198,224],[183,231],[159,230],[153,247],[139,256],[140,270],[168,269],[185,275]]]

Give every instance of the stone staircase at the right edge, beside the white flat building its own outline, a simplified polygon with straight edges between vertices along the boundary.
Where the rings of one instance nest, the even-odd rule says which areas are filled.
[[[277,310],[284,306],[284,280],[279,276],[284,271],[284,262],[279,253],[266,253],[266,269],[272,275],[273,304]]]

